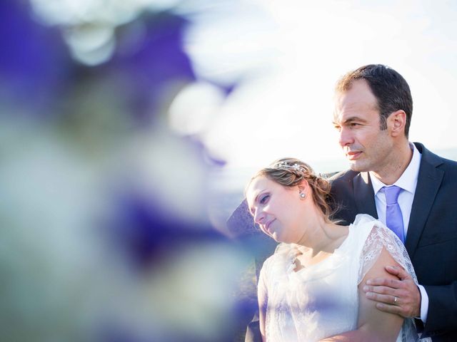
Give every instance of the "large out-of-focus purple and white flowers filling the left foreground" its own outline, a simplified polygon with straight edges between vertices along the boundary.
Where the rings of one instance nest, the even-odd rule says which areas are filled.
[[[167,119],[189,20],[40,3],[0,1],[2,339],[233,341],[248,256],[207,214],[221,162]]]

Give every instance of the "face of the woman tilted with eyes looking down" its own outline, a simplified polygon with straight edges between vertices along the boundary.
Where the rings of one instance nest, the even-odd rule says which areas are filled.
[[[283,187],[256,177],[246,192],[248,208],[262,232],[277,242],[296,243],[303,237],[303,205],[298,186]]]

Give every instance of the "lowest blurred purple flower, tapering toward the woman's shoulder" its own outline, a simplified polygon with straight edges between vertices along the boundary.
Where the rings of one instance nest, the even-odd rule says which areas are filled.
[[[109,240],[119,252],[124,252],[133,266],[159,266],[174,257],[176,250],[229,240],[209,224],[196,224],[165,209],[159,199],[143,198],[127,190],[118,197],[116,217],[111,217]]]

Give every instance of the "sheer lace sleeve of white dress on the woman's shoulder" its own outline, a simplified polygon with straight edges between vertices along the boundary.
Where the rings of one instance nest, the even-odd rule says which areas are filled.
[[[398,239],[396,234],[394,234],[391,229],[388,229],[385,224],[378,220],[375,221],[373,217],[369,215],[357,215],[356,222],[354,223],[363,223],[365,220],[367,223],[372,222],[371,224],[373,224],[373,227],[368,233],[365,244],[363,244],[360,269],[358,270],[358,284],[360,284],[363,277],[366,276],[367,272],[371,269],[373,264],[375,264],[382,249],[385,248],[387,252],[391,254],[391,257],[393,257],[403,269],[406,269],[417,285],[418,281],[413,269],[413,264],[411,264],[411,259],[409,259],[408,252],[406,252],[406,248],[401,240]],[[413,318],[405,319],[401,329],[401,339],[399,336],[397,341],[419,341]]]

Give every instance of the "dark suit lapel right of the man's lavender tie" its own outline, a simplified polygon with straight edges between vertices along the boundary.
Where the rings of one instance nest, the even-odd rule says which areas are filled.
[[[405,247],[411,259],[416,251],[423,228],[428,219],[436,194],[438,193],[444,172],[436,166],[442,163],[441,159],[426,150],[422,145],[416,144],[422,152],[421,168],[419,169],[416,193],[414,194],[411,216],[406,234]],[[421,148],[422,147],[422,148]]]

